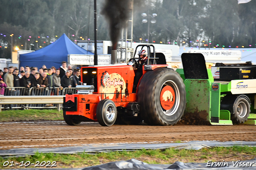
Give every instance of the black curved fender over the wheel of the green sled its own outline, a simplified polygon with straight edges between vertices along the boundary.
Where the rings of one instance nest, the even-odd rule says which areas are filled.
[[[246,95],[226,95],[220,102],[220,110],[228,110],[230,111],[230,114],[234,114],[234,103],[236,103],[236,101],[238,101],[240,98],[247,99],[251,105],[251,101]]]

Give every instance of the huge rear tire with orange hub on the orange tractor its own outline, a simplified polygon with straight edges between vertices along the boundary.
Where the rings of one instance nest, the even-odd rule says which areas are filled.
[[[157,68],[145,73],[137,91],[142,119],[148,125],[176,125],[186,106],[183,79],[173,69]]]

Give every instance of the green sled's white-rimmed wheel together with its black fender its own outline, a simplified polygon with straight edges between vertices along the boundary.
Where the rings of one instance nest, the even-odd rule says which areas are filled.
[[[250,115],[250,99],[246,95],[226,95],[220,109],[230,111],[230,119],[234,124],[244,123]]]

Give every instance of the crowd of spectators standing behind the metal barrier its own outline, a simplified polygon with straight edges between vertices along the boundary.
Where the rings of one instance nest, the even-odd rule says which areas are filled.
[[[59,69],[55,67],[46,68],[45,65],[38,69],[37,67],[26,66],[4,68],[0,70],[0,95],[4,95],[6,87],[76,87],[80,85],[80,68],[72,69],[71,65],[67,67],[66,61],[62,61]]]

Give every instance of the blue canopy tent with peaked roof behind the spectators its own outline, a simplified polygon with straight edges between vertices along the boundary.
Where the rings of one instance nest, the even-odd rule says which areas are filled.
[[[34,51],[32,53],[26,53],[20,55],[20,67],[38,67],[46,65],[47,68],[52,66],[58,69],[61,66],[62,61],[68,63],[69,54],[87,54],[94,55],[90,51],[82,49],[75,43],[73,43],[66,34],[63,34],[56,42]]]

